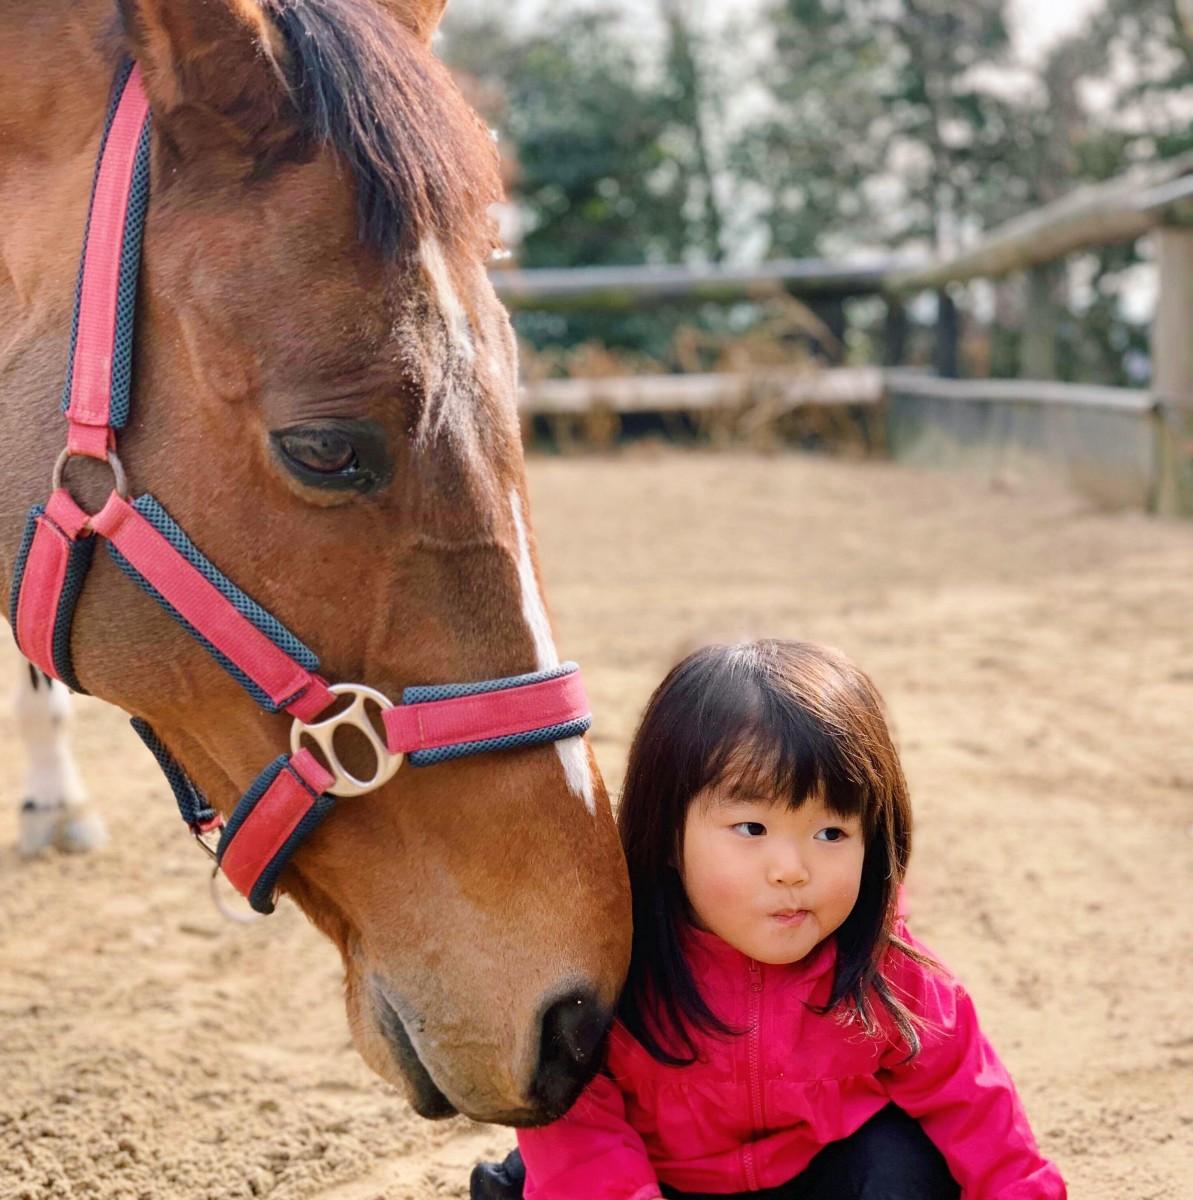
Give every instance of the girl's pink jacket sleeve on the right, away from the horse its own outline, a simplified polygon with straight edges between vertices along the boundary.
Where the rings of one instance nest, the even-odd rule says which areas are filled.
[[[883,1055],[882,1079],[891,1099],[919,1121],[945,1156],[961,1200],[1065,1200],[1065,1181],[1041,1156],[969,995],[948,974],[891,953],[897,965],[888,978],[922,1021],[922,1049],[905,1062],[906,1045],[897,1039]]]

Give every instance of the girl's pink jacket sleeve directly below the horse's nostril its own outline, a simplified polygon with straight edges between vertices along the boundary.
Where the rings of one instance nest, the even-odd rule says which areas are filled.
[[[518,1129],[524,1200],[655,1200],[659,1181],[625,1118],[625,1099],[598,1075],[558,1121]]]

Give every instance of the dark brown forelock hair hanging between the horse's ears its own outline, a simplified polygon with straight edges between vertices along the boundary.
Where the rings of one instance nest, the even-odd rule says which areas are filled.
[[[380,0],[266,0],[304,133],[356,184],[360,236],[383,254],[427,236],[487,257],[497,150],[448,71]]]

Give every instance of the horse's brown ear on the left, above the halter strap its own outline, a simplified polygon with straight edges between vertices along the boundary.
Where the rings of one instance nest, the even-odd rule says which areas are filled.
[[[247,148],[286,108],[281,35],[257,0],[120,0],[156,126],[179,148]]]

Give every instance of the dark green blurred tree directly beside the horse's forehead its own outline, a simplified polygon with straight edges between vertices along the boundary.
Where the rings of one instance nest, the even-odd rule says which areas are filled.
[[[512,160],[523,266],[720,257],[702,44],[664,2],[667,70],[643,59],[615,10],[558,11],[526,35],[491,16],[449,17],[444,56],[474,80]],[[520,313],[517,326],[536,347],[600,341],[666,361],[693,319]]]

